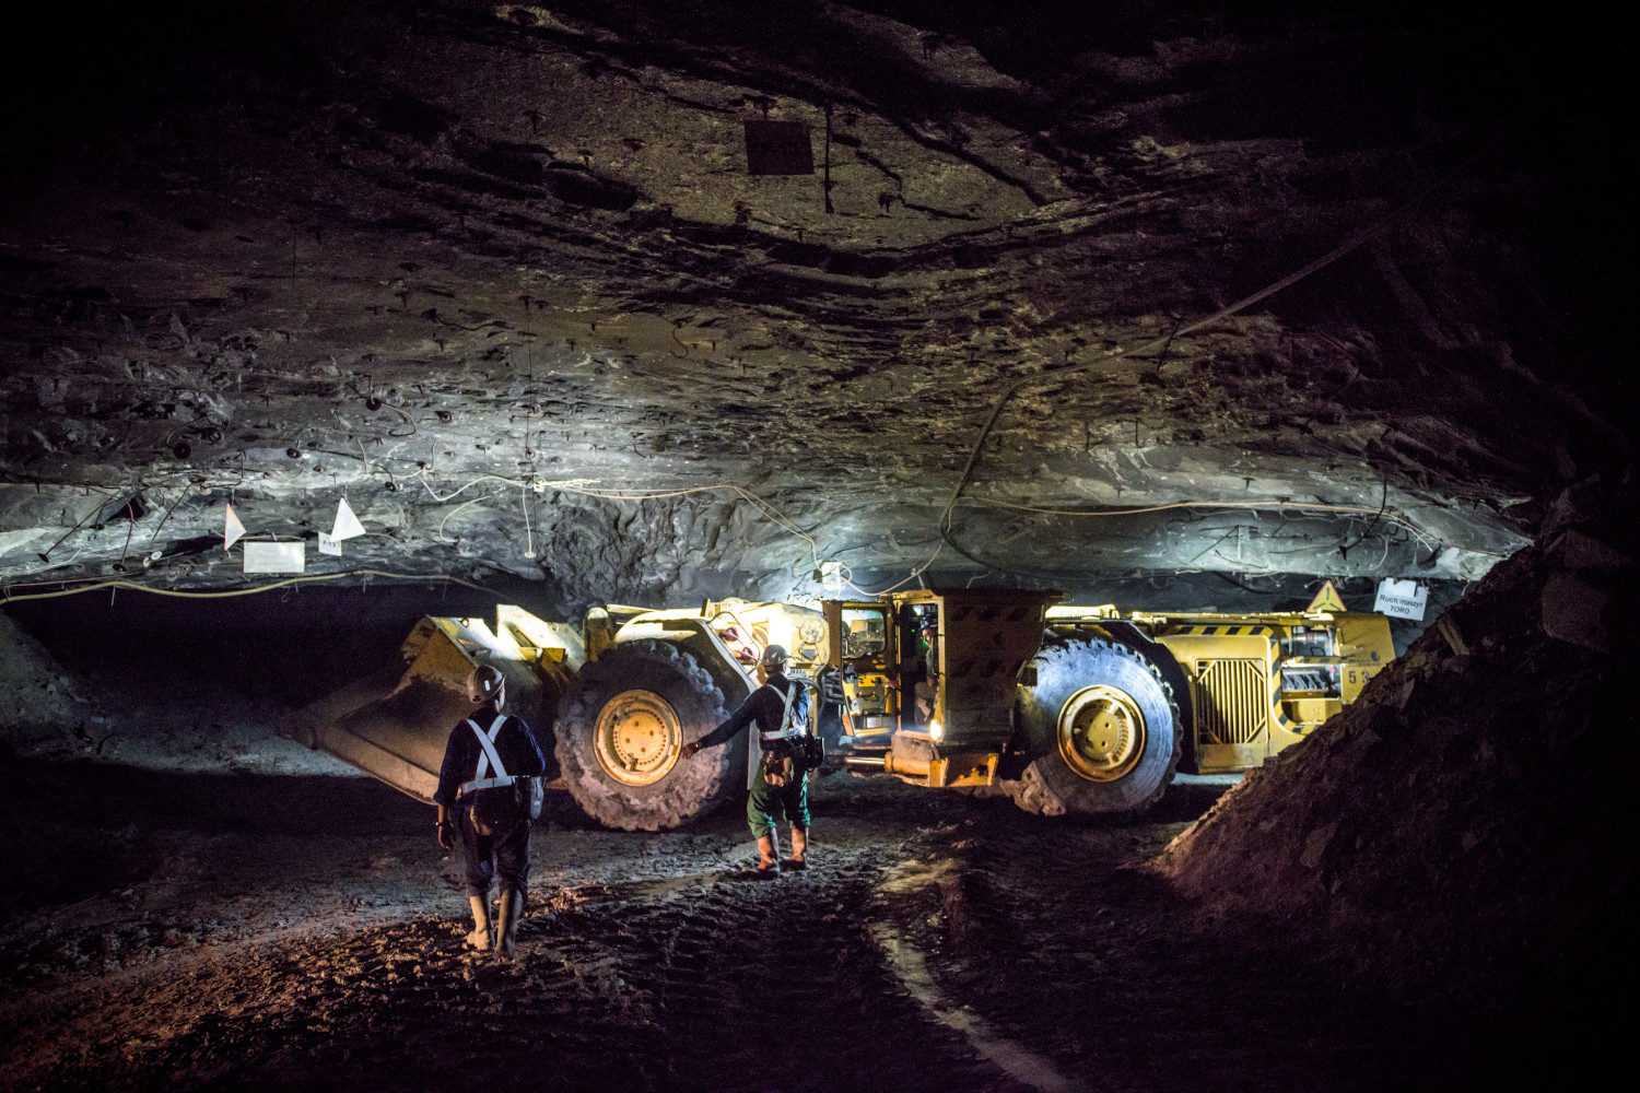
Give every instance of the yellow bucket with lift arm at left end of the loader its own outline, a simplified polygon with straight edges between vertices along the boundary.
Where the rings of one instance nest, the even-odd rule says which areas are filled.
[[[561,624],[515,606],[502,606],[499,616],[495,631],[474,618],[423,618],[403,644],[408,667],[354,680],[298,710],[280,731],[431,803],[449,732],[472,711],[467,675],[490,664],[507,677],[505,710],[528,721],[551,755],[553,718],[574,678],[567,657],[579,659],[579,639],[576,649],[533,644]]]

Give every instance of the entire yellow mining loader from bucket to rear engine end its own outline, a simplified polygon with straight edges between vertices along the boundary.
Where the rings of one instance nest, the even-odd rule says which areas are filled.
[[[1368,613],[1123,615],[1053,592],[917,590],[822,611],[723,600],[594,608],[579,628],[517,606],[495,626],[423,618],[407,667],[302,710],[287,734],[430,800],[476,664],[556,755],[587,814],[656,831],[743,788],[745,737],[682,759],[758,685],[768,644],[815,688],[823,770],[1005,791],[1028,811],[1128,811],[1184,762],[1260,765],[1351,701],[1394,657]]]

